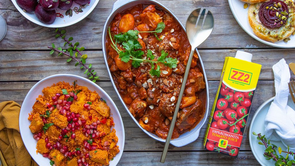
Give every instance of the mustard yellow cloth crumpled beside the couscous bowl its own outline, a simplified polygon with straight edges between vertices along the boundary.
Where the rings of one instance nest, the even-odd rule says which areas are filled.
[[[0,149],[9,166],[38,166],[20,136],[19,111],[14,101],[0,103]]]

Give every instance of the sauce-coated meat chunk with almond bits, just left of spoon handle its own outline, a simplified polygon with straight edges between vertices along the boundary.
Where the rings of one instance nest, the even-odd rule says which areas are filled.
[[[174,100],[172,100],[172,98],[174,98]],[[171,93],[164,93],[160,100],[159,111],[167,117],[172,116],[175,110],[174,101],[176,101],[175,96]]]

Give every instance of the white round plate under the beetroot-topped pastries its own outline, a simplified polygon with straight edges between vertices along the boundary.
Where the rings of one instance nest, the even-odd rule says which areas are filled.
[[[254,39],[260,41],[261,43],[271,45],[274,47],[279,47],[279,48],[295,48],[295,35],[291,35],[289,38],[291,40],[288,41],[288,43],[285,43],[283,40],[277,41],[275,43],[268,42],[265,40],[262,40],[258,38],[252,28],[249,25],[248,21],[248,9],[250,4],[248,4],[247,9],[244,9],[244,4],[245,2],[242,2],[240,0],[228,0],[228,3],[230,4],[230,9],[232,10],[232,14],[235,16],[235,19],[237,22],[240,24],[240,26],[247,32],[250,36],[252,36]]]

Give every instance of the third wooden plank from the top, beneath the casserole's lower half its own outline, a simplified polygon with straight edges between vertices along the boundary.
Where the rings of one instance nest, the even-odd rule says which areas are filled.
[[[24,97],[27,92],[31,89],[31,87],[36,82],[0,82],[0,102],[14,100],[19,104],[22,104]],[[120,111],[121,117],[123,119],[124,127],[125,127],[125,150],[127,151],[155,151],[162,150],[164,147],[164,143],[159,141],[155,141],[146,135],[130,118],[127,111],[123,108],[119,98],[115,94],[113,87],[111,87],[109,82],[98,82],[97,83],[101,88],[103,88],[110,97],[114,100],[117,108]],[[210,104],[209,104],[209,112],[212,109],[215,92],[218,86],[218,81],[209,81],[209,92],[210,92]],[[275,94],[275,90],[273,88],[273,81],[259,81],[257,91],[255,92],[255,96],[253,99],[253,105],[251,108],[251,112],[249,115],[248,125],[246,127],[246,132],[243,138],[243,144],[241,150],[250,150],[249,140],[248,140],[248,126],[250,125],[250,121],[253,117],[253,114],[257,110],[257,108],[266,100],[273,97]],[[208,123],[208,120],[205,124]],[[184,147],[173,147],[170,146],[170,150],[175,151],[183,151],[183,150],[203,150],[203,140],[204,134],[206,131],[206,125],[204,125],[201,129],[199,138],[191,143],[189,146]],[[257,131],[259,132],[259,131]],[[137,144],[136,147],[132,146],[133,144]]]

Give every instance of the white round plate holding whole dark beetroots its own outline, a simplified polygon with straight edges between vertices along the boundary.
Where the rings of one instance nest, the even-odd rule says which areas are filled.
[[[90,0],[89,6],[86,6],[85,9],[82,9],[83,10],[82,13],[76,14],[73,11],[73,16],[72,17],[66,16],[65,15],[65,10],[57,9],[56,12],[57,13],[60,13],[60,14],[63,14],[64,17],[63,18],[56,17],[55,21],[52,24],[44,24],[43,22],[41,22],[36,17],[35,12],[24,12],[23,9],[18,6],[17,1],[16,0],[12,0],[12,3],[17,8],[17,10],[24,17],[26,17],[28,20],[34,22],[35,24],[41,25],[43,27],[51,27],[51,28],[67,27],[67,26],[76,24],[77,22],[79,22],[82,19],[84,19],[85,17],[87,17],[92,12],[92,10],[95,8],[95,6],[97,5],[98,2],[99,2],[99,0]],[[78,5],[75,2],[73,2],[73,5],[72,5],[71,9],[73,9],[74,7],[78,7],[79,8],[79,6],[80,5]]]

